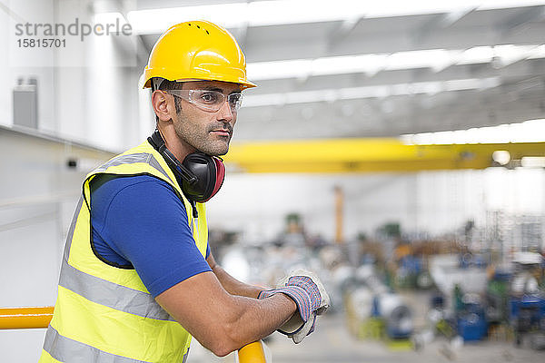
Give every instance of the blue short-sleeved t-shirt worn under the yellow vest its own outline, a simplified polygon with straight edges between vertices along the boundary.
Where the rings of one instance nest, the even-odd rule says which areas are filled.
[[[168,183],[149,175],[98,178],[92,183],[91,225],[101,260],[134,268],[154,297],[211,270],[195,245],[183,201]]]

